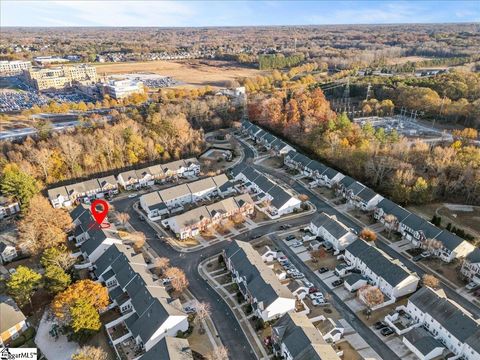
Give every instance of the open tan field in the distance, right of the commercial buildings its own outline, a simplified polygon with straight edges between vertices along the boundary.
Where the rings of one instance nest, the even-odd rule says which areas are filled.
[[[171,76],[183,84],[177,87],[225,86],[228,80],[261,75],[264,72],[243,68],[228,61],[184,60],[184,61],[146,61],[132,63],[109,63],[97,65],[99,75],[111,75],[130,72],[150,72]]]

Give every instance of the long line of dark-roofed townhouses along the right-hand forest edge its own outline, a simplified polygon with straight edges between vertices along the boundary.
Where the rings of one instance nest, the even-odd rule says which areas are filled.
[[[259,131],[265,132],[248,121],[242,123],[242,131],[251,138],[255,137],[251,135],[252,132],[255,134]],[[399,232],[413,245],[420,247],[424,246],[428,239],[438,240],[441,246],[429,249],[429,251],[445,262],[462,259],[462,274],[468,279],[475,278],[480,282],[480,249],[473,244],[448,230],[439,229],[427,220],[383,198],[350,176],[345,176],[335,169],[311,160],[293,148],[284,154],[284,163],[313,178],[312,186],[321,185],[335,188],[337,194],[343,196],[349,204],[364,211],[373,210],[374,218],[377,221],[385,224],[391,230]]]

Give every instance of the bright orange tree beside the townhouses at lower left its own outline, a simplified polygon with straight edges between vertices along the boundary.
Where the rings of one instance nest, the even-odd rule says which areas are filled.
[[[70,311],[79,301],[87,302],[97,311],[107,307],[109,298],[106,287],[92,280],[80,280],[59,293],[52,301],[52,309],[59,319],[69,321]]]

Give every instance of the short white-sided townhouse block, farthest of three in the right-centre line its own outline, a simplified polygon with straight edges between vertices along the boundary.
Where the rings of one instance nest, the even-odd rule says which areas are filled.
[[[328,215],[324,212],[313,217],[309,228],[312,234],[330,243],[336,251],[345,250],[348,245],[357,240],[357,235],[338,221],[335,215]]]

